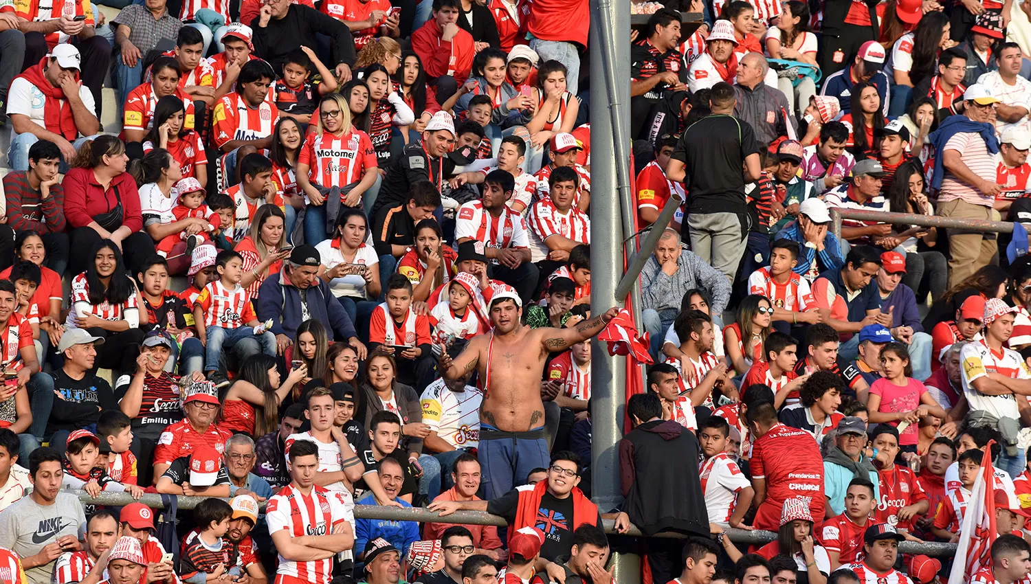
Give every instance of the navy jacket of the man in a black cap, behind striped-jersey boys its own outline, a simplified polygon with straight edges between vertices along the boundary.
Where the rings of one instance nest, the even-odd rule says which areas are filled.
[[[346,341],[358,336],[351,317],[329,291],[329,284],[322,278],[319,279],[319,284],[309,287],[306,294],[308,317],[326,324],[327,332],[335,340]],[[255,306],[255,311],[258,313],[258,320],[262,322],[272,319],[273,334],[286,335],[294,340],[297,328],[301,325],[301,290],[291,283],[285,271],[272,274],[258,289],[258,304]]]

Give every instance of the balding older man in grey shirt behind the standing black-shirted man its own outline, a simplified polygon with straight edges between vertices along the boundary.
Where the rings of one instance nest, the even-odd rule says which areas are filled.
[[[737,83],[734,93],[737,105],[734,116],[747,122],[756,132],[756,139],[770,144],[777,138],[797,139],[798,129],[784,92],[764,82],[769,65],[766,58],[750,53],[737,66]]]

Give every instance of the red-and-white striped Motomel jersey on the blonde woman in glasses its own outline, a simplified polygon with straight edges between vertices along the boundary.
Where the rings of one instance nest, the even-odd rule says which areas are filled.
[[[320,186],[346,186],[376,168],[376,152],[369,135],[353,128],[343,136],[309,134],[297,154],[308,165],[308,180]]]

